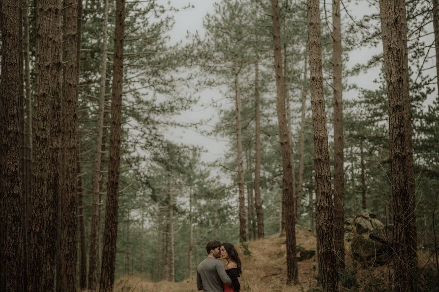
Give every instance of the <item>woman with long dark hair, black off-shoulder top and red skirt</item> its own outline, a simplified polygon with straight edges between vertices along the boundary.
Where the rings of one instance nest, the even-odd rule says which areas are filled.
[[[242,274],[238,252],[233,244],[224,242],[221,245],[220,253],[221,257],[227,260],[226,273],[232,280],[232,285],[223,284],[224,292],[238,292],[240,290],[238,277]]]

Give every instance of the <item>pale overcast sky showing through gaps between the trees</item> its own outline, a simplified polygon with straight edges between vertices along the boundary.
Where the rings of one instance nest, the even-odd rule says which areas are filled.
[[[160,2],[166,3],[167,0],[160,0]],[[183,10],[175,14],[176,24],[170,33],[172,41],[184,40],[188,31],[190,33],[195,33],[198,30],[201,34],[203,33],[203,17],[208,12],[213,13],[213,3],[215,3],[215,0],[170,0],[170,2],[174,7],[182,7],[189,2],[195,6],[194,8]],[[327,10],[330,11],[331,1],[327,0],[326,4]],[[348,11],[350,11],[350,14],[356,18],[360,18],[364,14],[378,12],[376,8],[369,7],[367,1],[362,1],[362,4],[350,3],[348,5]],[[347,24],[347,22],[351,21],[344,11],[341,12],[341,20],[342,27]],[[431,27],[431,30],[433,30],[433,27]],[[431,40],[426,41],[426,43],[433,41],[433,37],[431,36],[430,38]],[[380,51],[382,51],[381,46],[378,48],[361,48],[352,51],[349,53],[349,62],[345,64],[345,66],[351,68],[357,63],[365,63],[372,55],[375,55]],[[433,62],[433,60],[431,60],[431,62]],[[427,64],[425,67],[428,68],[433,65],[434,64]],[[360,87],[374,89],[377,85],[373,83],[373,79],[378,76],[378,73],[378,69],[371,70],[367,74],[362,73],[359,76],[350,78],[349,83],[356,83]],[[343,92],[343,99],[353,98],[356,94],[355,91]],[[206,105],[210,104],[212,100],[220,99],[220,92],[216,90],[206,90],[199,92],[197,95],[201,97],[200,104],[195,106],[192,111],[184,112],[178,117],[178,120],[197,121],[213,117],[213,120],[210,123],[213,125],[215,121],[218,120],[217,112],[211,107],[206,108]],[[206,162],[212,162],[213,160],[220,158],[226,150],[226,142],[217,140],[215,137],[205,137],[191,129],[185,129],[184,131],[182,129],[173,130],[168,135],[168,138],[171,138],[176,142],[203,146],[207,150],[207,153],[203,155],[203,160]]]

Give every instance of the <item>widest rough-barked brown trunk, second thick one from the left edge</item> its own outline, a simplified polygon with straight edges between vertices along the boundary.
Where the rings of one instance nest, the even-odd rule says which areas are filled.
[[[53,291],[60,192],[61,147],[61,5],[39,0],[37,6],[37,115],[32,175],[32,238],[29,292]]]

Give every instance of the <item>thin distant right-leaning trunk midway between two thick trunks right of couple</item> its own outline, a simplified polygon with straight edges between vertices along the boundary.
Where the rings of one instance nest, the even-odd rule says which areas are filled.
[[[306,94],[307,94],[307,68],[308,54],[305,54],[305,61],[303,64],[303,87],[301,94],[302,109],[300,118],[300,137],[299,137],[299,173],[298,173],[298,183],[297,183],[297,204],[300,206],[302,200],[302,190],[303,190],[303,169],[304,169],[304,157],[305,157],[305,111],[306,111]]]

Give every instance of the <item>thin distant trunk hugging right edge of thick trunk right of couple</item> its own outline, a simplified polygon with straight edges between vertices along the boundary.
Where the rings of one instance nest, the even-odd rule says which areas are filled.
[[[293,137],[291,134],[291,106],[290,106],[290,86],[288,83],[288,63],[287,63],[287,46],[286,44],[283,44],[283,89],[285,94],[285,115],[286,115],[286,121],[287,121],[287,127],[288,127],[288,144],[291,147],[291,167],[293,168],[291,180],[293,181],[293,196],[294,196],[294,216],[295,216],[295,222],[299,221],[300,216],[300,204],[297,202],[300,201],[297,197],[296,193],[296,174],[294,172],[294,151],[293,151]],[[286,207],[284,208],[287,209]],[[285,214],[286,216],[286,214]]]

